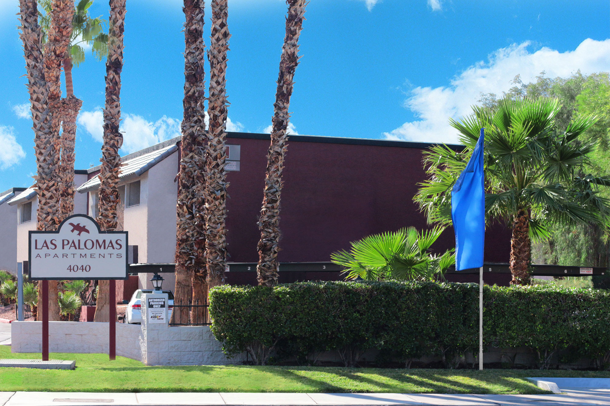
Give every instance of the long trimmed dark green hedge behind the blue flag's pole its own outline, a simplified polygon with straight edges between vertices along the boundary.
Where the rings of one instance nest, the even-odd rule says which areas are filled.
[[[575,288],[485,287],[484,344],[530,347],[542,367],[568,348],[603,357],[610,351],[609,297]],[[455,366],[478,348],[478,305],[473,283],[304,282],[210,291],[212,332],[226,354],[248,351],[260,364],[273,351],[310,361],[335,350],[353,366],[377,348],[406,365],[438,355]]]

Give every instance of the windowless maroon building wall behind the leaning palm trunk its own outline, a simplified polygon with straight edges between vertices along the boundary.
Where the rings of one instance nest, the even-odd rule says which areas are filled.
[[[257,262],[257,226],[269,135],[229,133],[241,146],[239,172],[229,172],[229,262]],[[328,262],[350,241],[401,227],[426,227],[413,197],[425,179],[422,152],[428,144],[400,141],[290,137],[281,201],[280,262]],[[508,262],[510,232],[486,232],[487,262]],[[447,229],[434,248],[454,247]]]

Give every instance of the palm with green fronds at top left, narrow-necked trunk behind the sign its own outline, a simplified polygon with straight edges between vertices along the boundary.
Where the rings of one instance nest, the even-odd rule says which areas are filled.
[[[73,65],[79,66],[85,60],[83,45],[91,46],[91,52],[96,59],[102,60],[108,53],[108,34],[104,32],[101,18],[91,18],[89,8],[93,0],[81,0],[77,3],[72,18],[72,34],[68,50],[63,57],[63,73],[65,76],[66,97],[62,99],[60,120],[63,133],[61,137],[61,162],[59,165],[60,182],[60,219],[62,221],[74,212],[74,141],[76,139],[76,118],[81,110],[82,101],[74,96],[72,81]],[[52,0],[39,0],[45,14],[40,13],[40,26],[43,43],[46,43],[47,32],[51,28]]]

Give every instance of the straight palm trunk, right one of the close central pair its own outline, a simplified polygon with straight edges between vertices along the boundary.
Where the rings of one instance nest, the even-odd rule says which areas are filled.
[[[212,0],[212,35],[207,58],[210,62],[210,93],[206,154],[206,263],[209,289],[224,283],[226,261],[226,67],[229,50],[227,0]]]

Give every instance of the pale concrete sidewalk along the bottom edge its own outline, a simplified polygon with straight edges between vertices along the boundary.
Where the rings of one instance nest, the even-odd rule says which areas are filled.
[[[401,393],[68,393],[0,392],[0,406],[78,405],[610,405],[610,390],[549,395]]]

